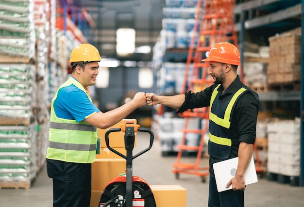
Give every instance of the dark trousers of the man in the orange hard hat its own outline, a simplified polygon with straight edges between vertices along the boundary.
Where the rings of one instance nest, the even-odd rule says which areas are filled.
[[[209,177],[208,207],[244,207],[244,191],[218,192],[215,177]]]

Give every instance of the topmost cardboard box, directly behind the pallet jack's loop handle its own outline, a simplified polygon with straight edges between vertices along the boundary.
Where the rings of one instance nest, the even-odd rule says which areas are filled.
[[[105,138],[104,138],[104,135],[105,135],[106,131],[109,130],[110,128],[120,128],[120,125],[125,125],[126,121],[133,121],[134,124],[136,125],[136,119],[123,119],[120,122],[118,122],[116,125],[113,125],[112,127],[108,127],[106,129],[97,128],[98,137],[101,137],[101,147],[107,147],[107,145],[105,143]],[[112,148],[125,147],[124,134],[125,133],[123,131],[111,132],[109,134],[109,144],[110,144],[110,146]],[[135,146],[136,146],[136,133],[135,133],[134,147]]]

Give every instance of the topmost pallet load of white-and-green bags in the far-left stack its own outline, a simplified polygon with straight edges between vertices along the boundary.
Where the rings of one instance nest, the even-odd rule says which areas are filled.
[[[29,61],[35,54],[32,0],[0,1],[0,56]]]

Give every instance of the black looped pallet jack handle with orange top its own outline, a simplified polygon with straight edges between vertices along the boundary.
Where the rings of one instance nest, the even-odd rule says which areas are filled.
[[[132,122],[132,123],[131,123]],[[112,132],[117,132],[117,131],[124,131],[125,132],[125,147],[126,147],[126,150],[132,148],[133,149],[133,146],[134,146],[134,140],[130,141],[130,138],[131,137],[135,137],[135,132],[136,131],[142,131],[142,132],[148,132],[150,134],[150,144],[149,144],[149,147],[142,150],[141,152],[137,153],[136,155],[132,156],[132,159],[135,159],[137,158],[138,156],[146,153],[147,151],[149,151],[152,147],[152,144],[153,144],[153,141],[154,141],[154,134],[152,132],[152,130],[150,128],[145,128],[145,127],[139,127],[139,125],[134,125],[133,124],[133,121],[131,122],[126,122],[126,125],[120,125],[120,128],[110,128],[108,129],[106,132],[105,132],[105,135],[104,135],[104,138],[105,138],[105,143],[108,147],[108,149],[112,152],[114,152],[115,154],[117,154],[118,156],[124,158],[124,159],[127,159],[127,157],[123,154],[121,154],[120,152],[118,152],[117,150],[113,149],[110,144],[109,144],[109,134],[112,133]],[[128,129],[130,129],[134,127],[134,130],[130,130],[128,131]],[[127,141],[126,141],[126,138],[127,138]],[[129,138],[129,140],[128,140]]]

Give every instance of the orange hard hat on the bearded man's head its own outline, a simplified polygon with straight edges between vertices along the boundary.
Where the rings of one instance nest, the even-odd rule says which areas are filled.
[[[209,51],[208,57],[202,61],[215,61],[225,64],[240,65],[240,55],[236,46],[229,42],[221,42],[214,44]]]

